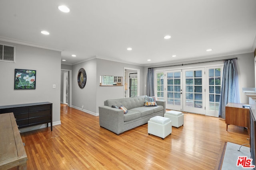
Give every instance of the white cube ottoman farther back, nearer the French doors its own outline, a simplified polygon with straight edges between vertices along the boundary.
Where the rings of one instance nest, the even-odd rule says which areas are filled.
[[[172,126],[174,127],[180,127],[184,125],[184,114],[180,111],[166,111],[164,114],[164,117],[168,117],[172,121]]]

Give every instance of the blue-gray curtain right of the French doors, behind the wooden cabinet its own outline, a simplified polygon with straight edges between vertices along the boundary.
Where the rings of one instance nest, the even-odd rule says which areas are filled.
[[[228,103],[240,103],[238,72],[236,59],[224,62],[222,86],[220,92],[219,116],[225,119],[225,106]]]

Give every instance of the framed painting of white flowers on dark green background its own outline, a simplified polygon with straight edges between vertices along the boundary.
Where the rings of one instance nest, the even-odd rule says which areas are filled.
[[[14,89],[36,89],[36,70],[14,70]]]

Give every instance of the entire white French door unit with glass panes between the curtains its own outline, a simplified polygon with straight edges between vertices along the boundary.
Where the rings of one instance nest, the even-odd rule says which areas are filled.
[[[156,71],[156,99],[166,108],[218,117],[223,64]]]

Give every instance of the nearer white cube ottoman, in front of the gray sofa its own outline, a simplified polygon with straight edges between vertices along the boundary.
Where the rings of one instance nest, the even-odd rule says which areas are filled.
[[[172,133],[172,121],[167,117],[155,116],[148,121],[148,134],[164,139]]]

